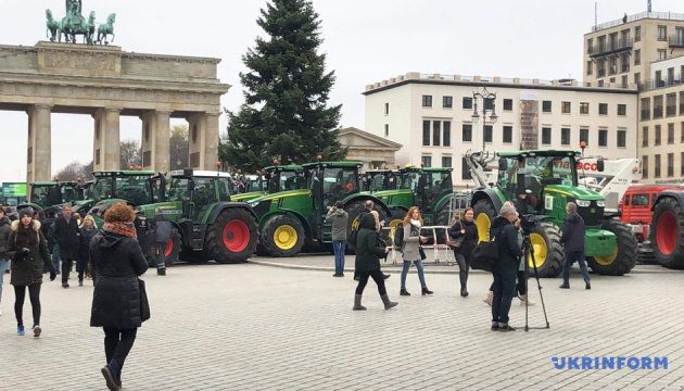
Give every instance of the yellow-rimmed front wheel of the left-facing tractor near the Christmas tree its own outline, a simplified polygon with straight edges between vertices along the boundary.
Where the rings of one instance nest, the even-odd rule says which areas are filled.
[[[262,242],[270,256],[296,255],[304,247],[304,227],[296,217],[277,215],[264,224]]]

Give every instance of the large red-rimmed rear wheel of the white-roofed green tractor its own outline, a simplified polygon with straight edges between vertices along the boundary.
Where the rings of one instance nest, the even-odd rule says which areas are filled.
[[[245,262],[256,251],[257,241],[254,217],[240,207],[225,209],[206,229],[204,258],[219,264]]]

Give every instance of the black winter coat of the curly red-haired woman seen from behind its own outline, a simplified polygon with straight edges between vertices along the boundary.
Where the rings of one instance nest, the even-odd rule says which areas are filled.
[[[96,280],[90,326],[128,330],[140,327],[138,276],[148,269],[135,238],[100,231],[90,242]]]

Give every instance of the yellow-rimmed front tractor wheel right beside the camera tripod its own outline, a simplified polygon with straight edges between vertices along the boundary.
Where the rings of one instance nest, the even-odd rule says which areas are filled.
[[[534,274],[534,264],[540,278],[554,278],[562,272],[563,251],[560,245],[560,229],[552,223],[540,223],[530,229],[530,243],[534,250],[534,263],[532,256],[528,257],[530,275]]]

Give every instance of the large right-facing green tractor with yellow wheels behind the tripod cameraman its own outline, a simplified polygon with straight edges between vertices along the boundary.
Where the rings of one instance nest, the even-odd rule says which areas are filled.
[[[477,189],[471,200],[481,241],[490,240],[493,218],[505,201],[512,201],[520,214],[543,216],[530,229],[536,269],[540,277],[557,277],[563,258],[560,227],[567,215],[566,204],[574,202],[586,226],[584,252],[590,267],[613,276],[632,270],[638,257],[636,238],[624,223],[604,217],[603,195],[578,187],[580,152],[511,151],[498,152],[497,156],[496,182]],[[531,257],[528,262],[532,269]]]

